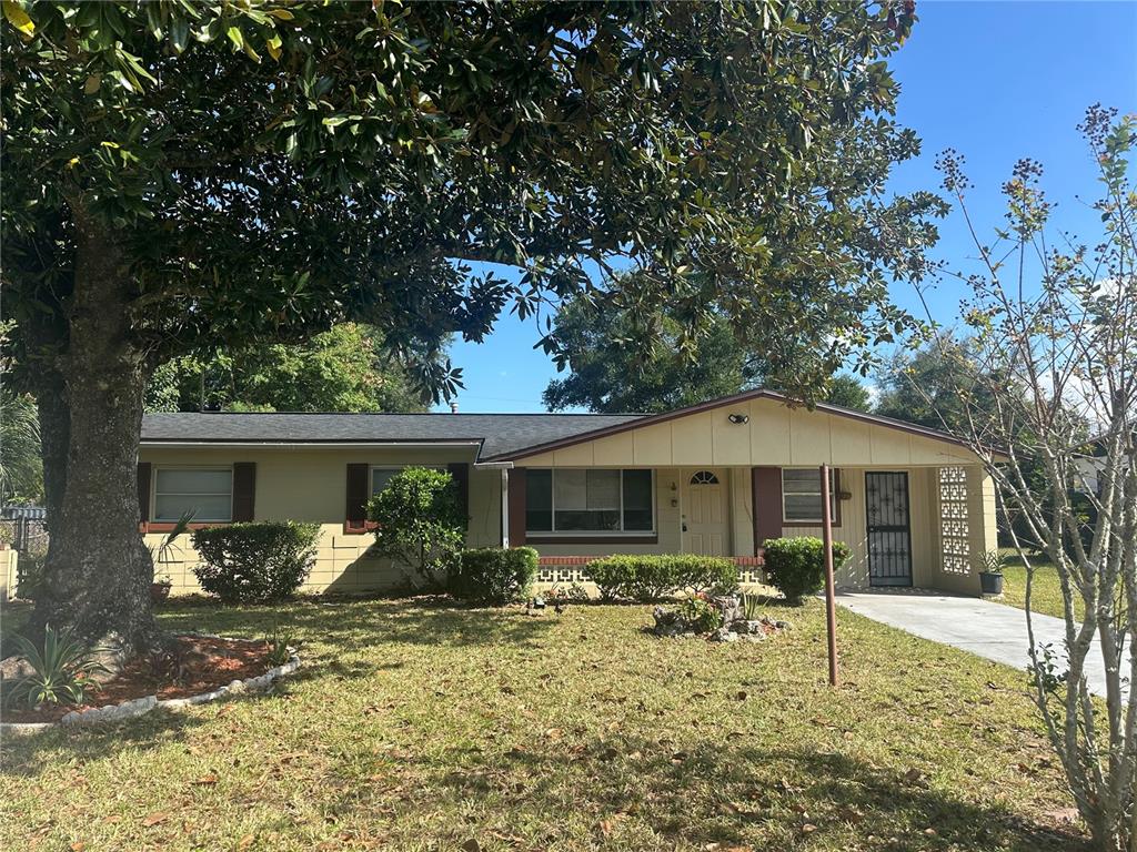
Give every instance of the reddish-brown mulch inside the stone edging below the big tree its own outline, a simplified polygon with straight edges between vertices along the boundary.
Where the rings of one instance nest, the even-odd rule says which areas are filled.
[[[184,699],[211,692],[233,680],[244,680],[265,674],[268,663],[268,643],[247,640],[215,638],[211,636],[177,636],[177,653],[161,661],[139,657],[101,690],[89,693],[90,703],[58,704],[42,710],[5,708],[3,721],[58,721],[72,710],[118,704],[132,699],[157,695],[159,701]],[[173,680],[173,670],[181,668],[181,676]]]

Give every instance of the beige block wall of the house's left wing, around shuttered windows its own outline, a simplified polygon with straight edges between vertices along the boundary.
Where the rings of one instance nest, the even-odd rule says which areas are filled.
[[[318,523],[322,528],[316,563],[306,592],[364,592],[389,587],[402,579],[401,573],[388,560],[367,556],[374,543],[371,534],[348,535],[343,532],[347,513],[347,466],[446,465],[471,461],[473,449],[309,449],[309,448],[232,448],[232,449],[163,449],[143,446],[140,461],[155,467],[227,466],[238,461],[257,465],[254,512],[256,520],[299,520]],[[151,487],[151,495],[153,488]],[[472,468],[470,474],[470,531],[467,544],[473,548],[500,542],[500,471]],[[146,536],[147,545],[156,549],[163,533]],[[158,575],[173,582],[172,593],[199,592],[192,567],[197,553],[189,535],[182,536],[168,559],[156,566]]]

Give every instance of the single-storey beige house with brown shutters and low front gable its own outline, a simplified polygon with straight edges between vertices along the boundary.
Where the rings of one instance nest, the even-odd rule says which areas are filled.
[[[317,521],[309,591],[401,579],[367,552],[365,504],[407,466],[449,470],[467,544],[533,546],[545,583],[609,553],[735,557],[755,579],[764,540],[821,535],[822,463],[833,537],[853,552],[841,586],[979,594],[974,557],[996,546],[994,485],[960,441],[762,390],[658,415],[156,414],[139,459],[148,543],[186,510]],[[175,593],[194,591],[188,541],[167,560]]]

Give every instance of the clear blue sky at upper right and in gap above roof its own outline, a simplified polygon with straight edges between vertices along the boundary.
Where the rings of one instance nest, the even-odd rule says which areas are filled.
[[[1137,111],[1137,2],[929,2],[891,66],[902,85],[898,120],[923,140],[921,156],[896,169],[891,189],[938,189],[936,154],[964,154],[976,184],[968,203],[977,223],[1001,224],[999,185],[1015,160],[1039,160],[1043,185],[1057,202],[1055,224],[1093,241],[1095,169],[1077,125],[1090,103]],[[1079,200],[1081,199],[1081,200]],[[988,231],[989,233],[989,231]],[[940,226],[936,257],[968,268],[974,250],[962,219]],[[957,314],[957,286],[929,293],[937,319]],[[915,310],[910,286],[893,298]],[[485,343],[456,343],[464,370],[462,411],[542,411],[541,391],[556,375],[533,344],[532,323],[504,317]]]

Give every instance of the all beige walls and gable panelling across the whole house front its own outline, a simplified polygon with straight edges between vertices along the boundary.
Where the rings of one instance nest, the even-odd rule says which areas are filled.
[[[749,417],[732,424],[731,414]],[[400,582],[399,571],[385,560],[367,556],[373,536],[347,535],[347,466],[446,465],[473,461],[474,448],[194,448],[143,446],[140,459],[161,465],[257,465],[255,513],[257,520],[302,520],[322,525],[316,565],[306,591],[363,592]],[[907,432],[805,409],[790,409],[772,400],[752,400],[703,411],[639,429],[611,435],[575,446],[518,460],[518,467],[650,467],[656,471],[655,502],[658,541],[652,544],[541,543],[530,540],[545,556],[603,556],[613,552],[675,553],[683,549],[681,534],[682,483],[692,468],[712,468],[725,477],[727,544],[733,556],[755,552],[752,466],[812,467],[830,463],[841,470],[841,524],[833,537],[853,551],[838,576],[843,586],[868,585],[869,560],[865,532],[865,482],[868,469],[907,470],[911,502],[913,583],[972,593],[973,576],[946,576],[941,570],[937,469],[969,467],[969,519],[974,551],[995,546],[994,486],[982,476],[969,451]],[[471,468],[470,546],[490,546],[500,541],[501,471]],[[674,490],[672,486],[674,485]],[[152,488],[151,488],[152,493]],[[816,535],[815,527],[786,527],[783,535]],[[157,546],[161,534],[147,542]],[[515,540],[515,538],[514,538]],[[191,568],[197,557],[188,537],[173,558],[159,566],[169,575],[175,593],[198,591]]]

